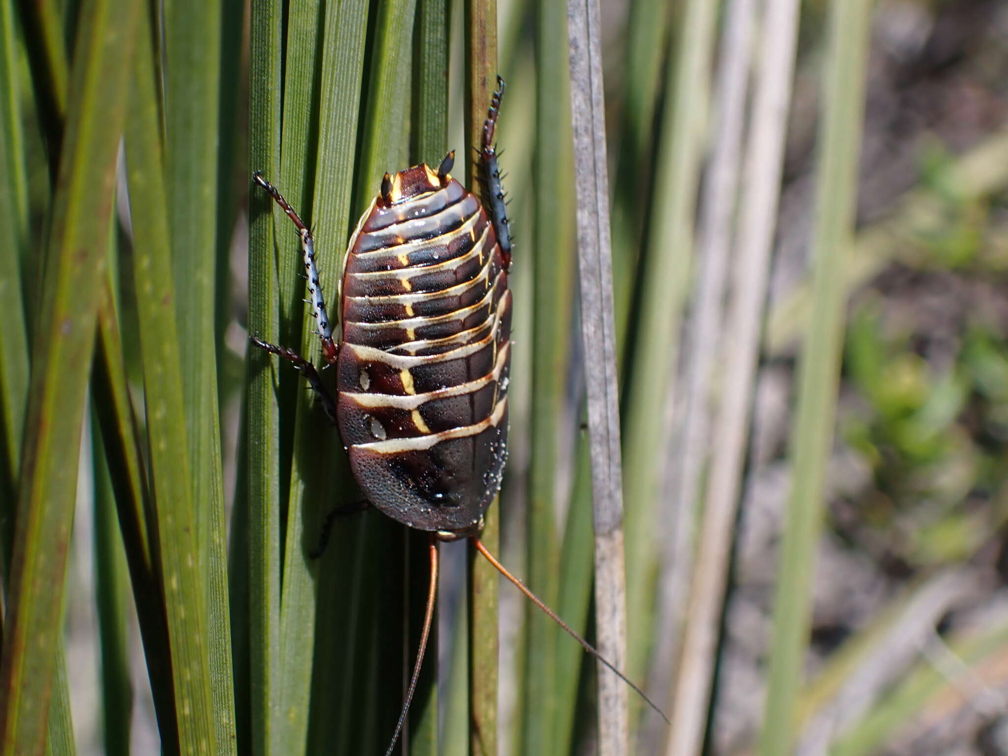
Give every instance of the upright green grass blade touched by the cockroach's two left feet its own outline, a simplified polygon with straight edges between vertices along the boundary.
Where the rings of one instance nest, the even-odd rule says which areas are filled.
[[[249,60],[249,165],[267,176],[280,167],[279,0],[251,7]],[[276,343],[279,336],[272,201],[261,193],[249,201],[249,333]],[[250,350],[247,440],[249,523],[249,664],[252,753],[282,753],[275,718],[280,645],[280,472],[278,366],[270,355]]]

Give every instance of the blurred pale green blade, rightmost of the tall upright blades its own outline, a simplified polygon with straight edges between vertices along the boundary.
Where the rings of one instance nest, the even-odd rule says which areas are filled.
[[[837,285],[854,233],[871,0],[831,4],[823,144],[812,240],[815,309],[798,366],[792,484],[774,601],[769,688],[759,753],[789,753],[808,645],[811,578],[840,379],[846,291]]]

